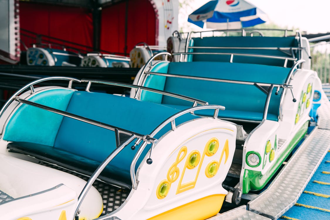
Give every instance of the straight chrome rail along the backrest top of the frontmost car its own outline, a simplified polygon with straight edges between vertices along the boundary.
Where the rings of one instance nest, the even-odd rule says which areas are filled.
[[[135,94],[135,99],[138,98],[139,93],[141,92],[141,90],[146,90],[149,92],[154,92],[154,93],[158,93],[158,94],[162,94],[162,95],[167,95],[167,96],[171,96],[171,97],[175,97],[175,98],[179,98],[179,99],[183,99],[186,101],[190,101],[193,102],[194,106],[196,106],[197,104],[200,105],[208,105],[208,102],[204,102],[202,100],[199,99],[194,99],[188,96],[184,96],[184,95],[180,95],[180,94],[176,94],[176,93],[172,93],[172,92],[166,92],[163,90],[158,90],[158,89],[153,89],[153,88],[149,88],[149,87],[144,87],[144,86],[139,86],[139,85],[132,85],[132,84],[127,84],[127,83],[120,83],[120,82],[112,82],[112,81],[106,81],[106,80],[89,80],[89,79],[82,79],[82,82],[87,82],[87,87],[86,87],[86,91],[89,91],[89,87],[91,85],[91,83],[101,83],[101,84],[107,84],[107,85],[115,85],[115,86],[122,86],[122,87],[127,87],[127,88],[136,88],[138,89],[136,94]]]

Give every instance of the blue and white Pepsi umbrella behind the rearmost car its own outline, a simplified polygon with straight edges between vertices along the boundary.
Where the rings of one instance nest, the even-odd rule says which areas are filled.
[[[268,16],[244,0],[210,1],[194,11],[188,21],[203,28],[239,29],[262,24],[268,21]]]

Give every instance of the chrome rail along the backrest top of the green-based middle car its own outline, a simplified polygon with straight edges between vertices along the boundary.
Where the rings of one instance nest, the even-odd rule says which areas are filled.
[[[234,56],[248,56],[248,57],[258,57],[258,58],[270,58],[270,59],[279,59],[284,60],[284,67],[286,67],[288,60],[296,61],[297,58],[292,57],[285,57],[285,56],[272,56],[272,55],[263,55],[263,54],[251,54],[251,53],[225,53],[225,52],[179,52],[179,53],[172,53],[173,56],[180,55],[203,55],[203,54],[211,54],[211,55],[230,55],[230,63],[233,62]],[[181,59],[180,59],[181,60]]]

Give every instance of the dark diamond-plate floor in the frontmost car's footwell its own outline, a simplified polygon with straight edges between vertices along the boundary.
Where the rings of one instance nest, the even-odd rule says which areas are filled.
[[[56,165],[49,164],[49,163],[46,163],[43,161],[40,161],[39,164],[56,169],[56,170],[60,170],[60,171],[66,172],[66,173],[70,173],[72,175],[78,176],[79,178],[82,178],[85,181],[87,181],[89,179],[89,177],[84,176],[82,174],[75,173],[75,172],[66,170],[64,168],[57,167]],[[109,213],[115,211],[117,208],[119,208],[119,206],[124,203],[128,194],[130,193],[127,190],[120,189],[115,186],[112,186],[112,185],[109,185],[107,183],[97,181],[97,180],[93,183],[93,186],[99,191],[99,193],[101,194],[101,196],[103,198],[103,211],[102,211],[101,216],[105,215],[105,214],[109,214]],[[0,200],[1,200],[1,197],[0,197]],[[111,218],[113,218],[113,217],[111,217]],[[111,218],[109,218],[109,219],[111,219]],[[113,220],[116,220],[116,218],[113,218]]]

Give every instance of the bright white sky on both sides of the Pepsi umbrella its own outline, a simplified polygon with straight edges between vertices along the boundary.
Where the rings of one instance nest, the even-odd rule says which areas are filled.
[[[183,0],[179,0],[182,2]],[[188,24],[188,15],[210,0],[191,0],[191,4],[180,11],[179,27],[184,31],[201,30]],[[330,0],[247,0],[264,11],[271,22],[282,27],[299,28],[308,33],[330,32]]]

